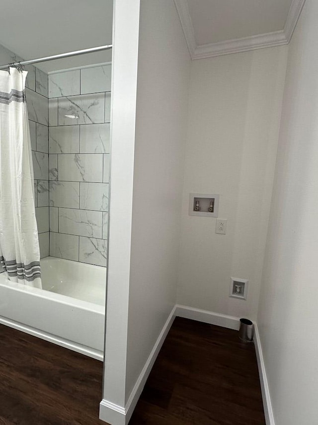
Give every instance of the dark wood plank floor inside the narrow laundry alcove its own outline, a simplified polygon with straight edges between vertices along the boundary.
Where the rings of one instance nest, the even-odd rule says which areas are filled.
[[[176,317],[130,425],[265,425],[254,344]]]

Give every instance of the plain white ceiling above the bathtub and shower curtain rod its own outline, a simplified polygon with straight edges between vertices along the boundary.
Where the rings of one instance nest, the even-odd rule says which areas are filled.
[[[112,15],[113,0],[1,0],[0,44],[25,60],[111,44]],[[48,72],[110,59],[111,50],[36,66]]]

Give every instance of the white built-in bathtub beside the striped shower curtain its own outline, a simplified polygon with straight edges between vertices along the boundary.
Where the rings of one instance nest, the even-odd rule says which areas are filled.
[[[106,269],[47,257],[42,287],[0,274],[0,323],[103,359]]]

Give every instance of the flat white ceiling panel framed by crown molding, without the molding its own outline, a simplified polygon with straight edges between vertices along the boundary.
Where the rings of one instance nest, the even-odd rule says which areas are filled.
[[[283,29],[292,3],[292,0],[187,1],[198,45]]]

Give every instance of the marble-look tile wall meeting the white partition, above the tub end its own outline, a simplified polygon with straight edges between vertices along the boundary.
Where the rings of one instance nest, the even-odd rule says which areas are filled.
[[[98,266],[107,258],[110,82],[110,65],[49,75],[50,255]]]

